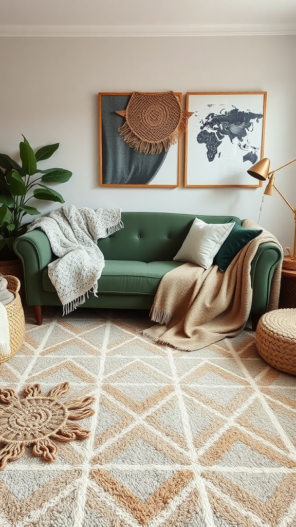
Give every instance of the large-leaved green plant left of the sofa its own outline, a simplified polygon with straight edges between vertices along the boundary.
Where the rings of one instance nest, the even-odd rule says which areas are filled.
[[[40,214],[28,202],[39,199],[64,203],[61,194],[47,187],[47,183],[64,183],[72,176],[72,172],[61,168],[37,168],[37,162],[50,158],[60,143],[34,152],[24,135],[23,138],[19,143],[21,164],[0,153],[0,261],[16,259],[13,243],[16,237],[26,232],[25,214]]]

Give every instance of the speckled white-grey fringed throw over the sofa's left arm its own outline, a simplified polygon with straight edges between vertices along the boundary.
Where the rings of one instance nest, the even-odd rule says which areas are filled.
[[[64,314],[97,293],[97,280],[105,266],[99,238],[122,229],[121,209],[61,207],[34,220],[28,231],[41,229],[58,257],[48,265],[48,276],[63,304]]]

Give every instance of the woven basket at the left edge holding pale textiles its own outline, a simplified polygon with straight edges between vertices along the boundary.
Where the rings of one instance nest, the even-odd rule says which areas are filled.
[[[7,289],[11,291],[15,298],[9,304],[4,306],[7,312],[8,326],[9,326],[9,343],[11,346],[11,353],[7,357],[0,357],[0,364],[12,357],[18,352],[24,340],[25,332],[25,317],[21,302],[21,297],[18,294],[21,284],[16,276],[5,275],[7,280]]]

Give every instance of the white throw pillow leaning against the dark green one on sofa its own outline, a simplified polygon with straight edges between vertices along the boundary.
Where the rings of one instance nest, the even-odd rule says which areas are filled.
[[[174,260],[192,262],[209,269],[220,247],[233,229],[233,223],[205,223],[195,218]]]

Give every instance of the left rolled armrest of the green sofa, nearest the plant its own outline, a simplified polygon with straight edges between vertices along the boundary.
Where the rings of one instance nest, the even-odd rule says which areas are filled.
[[[26,232],[14,242],[16,255],[22,261],[28,306],[42,306],[42,271],[55,258],[47,236],[41,230]]]

